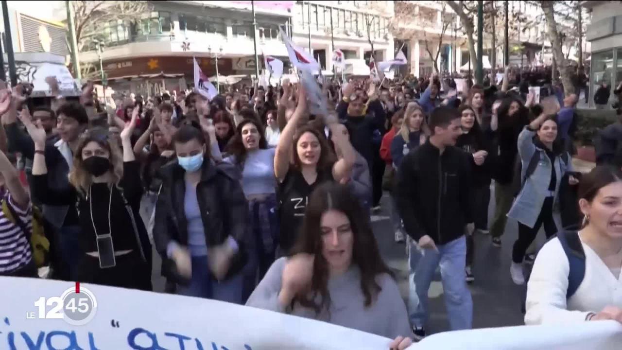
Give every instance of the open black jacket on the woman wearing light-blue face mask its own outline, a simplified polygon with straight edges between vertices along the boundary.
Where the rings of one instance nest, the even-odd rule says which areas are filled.
[[[162,187],[156,204],[154,241],[163,259],[162,273],[177,283],[185,284],[177,269],[167,257],[167,247],[174,240],[180,245],[188,243],[188,222],[183,209],[185,196],[185,170],[177,161],[160,169]],[[248,204],[242,187],[219,166],[203,161],[201,180],[197,185],[198,206],[203,219],[207,247],[223,244],[231,236],[238,244],[238,252],[231,260],[225,280],[236,275],[246,264],[244,235]]]

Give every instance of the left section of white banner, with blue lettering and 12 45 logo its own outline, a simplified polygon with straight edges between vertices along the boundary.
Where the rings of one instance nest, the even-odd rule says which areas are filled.
[[[391,343],[312,319],[189,296],[84,283],[75,293],[70,282],[16,277],[0,277],[0,286],[2,350],[343,350],[388,349]]]

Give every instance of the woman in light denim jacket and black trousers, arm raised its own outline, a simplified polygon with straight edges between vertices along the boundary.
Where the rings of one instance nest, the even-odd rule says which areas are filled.
[[[557,105],[559,109],[559,105]],[[508,217],[518,221],[518,239],[512,249],[510,274],[517,285],[525,283],[522,260],[527,248],[544,225],[546,237],[554,235],[558,227],[553,219],[555,204],[559,202],[559,187],[564,174],[572,171],[570,154],[557,139],[556,110],[545,108],[518,136],[521,157],[521,190],[516,196]],[[569,184],[578,183],[569,177]]]

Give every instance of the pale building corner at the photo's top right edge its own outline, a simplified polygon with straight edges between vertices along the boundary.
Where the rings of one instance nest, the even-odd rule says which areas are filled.
[[[587,40],[592,44],[590,65],[590,106],[601,83],[610,88],[608,106],[613,102],[613,90],[622,82],[622,3],[620,1],[583,1],[592,12]]]

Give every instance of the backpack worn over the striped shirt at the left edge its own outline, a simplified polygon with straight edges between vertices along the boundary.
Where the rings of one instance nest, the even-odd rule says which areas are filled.
[[[32,260],[37,267],[44,267],[49,261],[50,241],[45,237],[43,215],[39,208],[32,207],[32,232],[27,229],[27,225],[22,222],[13,207],[2,201],[2,213],[12,224],[17,225],[26,235],[32,250]]]

